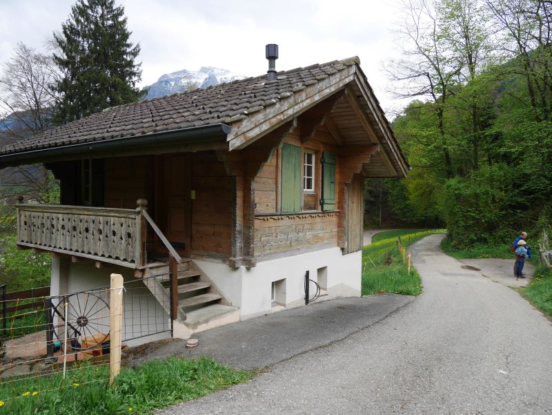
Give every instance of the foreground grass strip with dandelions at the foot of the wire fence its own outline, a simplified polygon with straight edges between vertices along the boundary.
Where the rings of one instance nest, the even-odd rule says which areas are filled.
[[[65,379],[56,374],[1,384],[0,414],[152,414],[253,377],[209,358],[168,358],[124,367],[110,387],[108,366],[81,365]]]

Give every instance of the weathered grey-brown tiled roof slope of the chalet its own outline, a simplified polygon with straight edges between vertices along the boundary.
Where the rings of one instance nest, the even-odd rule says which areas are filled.
[[[279,99],[359,64],[353,57],[103,110],[0,148],[0,155],[241,121]]]

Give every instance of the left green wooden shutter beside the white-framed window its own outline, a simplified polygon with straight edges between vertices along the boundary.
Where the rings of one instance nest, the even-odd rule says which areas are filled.
[[[301,148],[282,146],[282,212],[301,211]]]

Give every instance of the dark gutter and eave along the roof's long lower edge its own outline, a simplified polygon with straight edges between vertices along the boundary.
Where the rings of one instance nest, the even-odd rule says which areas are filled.
[[[227,124],[212,124],[193,128],[150,133],[133,137],[103,139],[97,142],[39,148],[0,156],[0,168],[21,164],[50,163],[90,157],[114,157],[121,154],[155,154],[201,149],[201,144],[219,142],[226,146],[232,128]],[[190,148],[191,146],[191,148]]]

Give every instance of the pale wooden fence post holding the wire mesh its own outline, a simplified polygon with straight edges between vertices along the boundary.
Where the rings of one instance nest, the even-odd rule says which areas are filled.
[[[123,276],[111,274],[110,287],[110,376],[112,384],[121,370],[121,325],[123,322]]]

